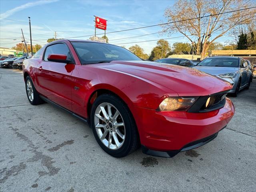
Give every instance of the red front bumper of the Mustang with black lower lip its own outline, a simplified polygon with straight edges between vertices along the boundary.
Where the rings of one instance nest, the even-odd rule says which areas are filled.
[[[134,117],[140,117],[135,120],[143,152],[157,156],[167,156],[167,153],[171,157],[214,139],[234,116],[234,111],[231,100],[226,98],[223,108],[210,112],[164,112],[138,108],[138,116]]]

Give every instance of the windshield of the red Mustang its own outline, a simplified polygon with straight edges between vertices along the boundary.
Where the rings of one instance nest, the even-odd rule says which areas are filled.
[[[82,64],[111,62],[113,60],[142,60],[125,48],[97,42],[72,42]]]

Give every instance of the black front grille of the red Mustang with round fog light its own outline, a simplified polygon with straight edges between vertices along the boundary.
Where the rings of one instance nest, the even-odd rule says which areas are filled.
[[[226,103],[225,96],[228,91],[219,92],[208,96],[200,96],[198,100],[188,109],[188,112],[198,113],[198,112],[208,112],[224,107]],[[210,102],[206,106],[206,102],[210,97]]]

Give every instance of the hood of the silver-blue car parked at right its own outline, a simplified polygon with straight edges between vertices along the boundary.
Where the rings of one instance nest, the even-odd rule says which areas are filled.
[[[203,71],[211,75],[220,75],[225,73],[236,72],[239,68],[234,67],[207,67],[207,66],[196,66],[194,69]]]

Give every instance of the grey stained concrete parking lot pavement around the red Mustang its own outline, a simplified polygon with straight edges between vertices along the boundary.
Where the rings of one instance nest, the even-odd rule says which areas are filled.
[[[255,191],[256,80],[212,142],[174,158],[113,158],[84,122],[32,106],[20,70],[0,68],[0,191]]]

